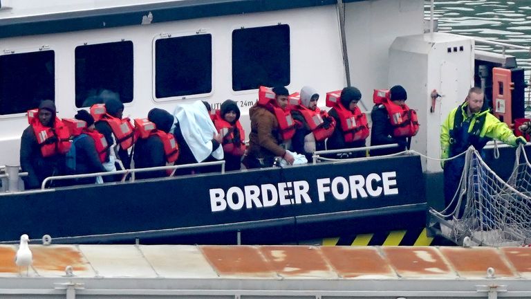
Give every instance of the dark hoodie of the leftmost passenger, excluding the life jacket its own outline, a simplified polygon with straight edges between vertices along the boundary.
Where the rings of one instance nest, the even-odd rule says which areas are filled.
[[[51,125],[55,123],[55,104],[51,100],[44,100],[39,105],[40,109],[52,112]],[[28,126],[22,133],[20,143],[20,165],[23,172],[28,172],[24,177],[26,189],[40,188],[42,181],[48,176],[64,174],[64,155],[55,155],[44,158],[41,147],[37,143],[37,137],[33,127]]]

